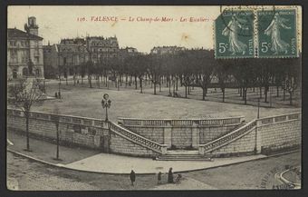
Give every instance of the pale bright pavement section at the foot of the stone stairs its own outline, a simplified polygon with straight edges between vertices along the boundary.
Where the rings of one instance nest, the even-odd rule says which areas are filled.
[[[156,161],[148,158],[121,156],[116,154],[100,153],[82,159],[81,161],[65,164],[65,167],[75,170],[108,173],[130,173],[134,169],[136,173],[168,172],[170,167],[173,172],[187,172],[198,169],[212,168],[232,163],[243,163],[266,157],[265,155],[253,155],[245,157],[217,158],[214,162],[207,161]]]

